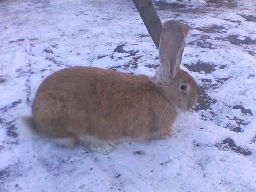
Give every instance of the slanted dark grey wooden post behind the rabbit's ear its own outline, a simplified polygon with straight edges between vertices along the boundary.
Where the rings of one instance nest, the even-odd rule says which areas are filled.
[[[154,5],[151,0],[133,0],[133,3],[139,11],[155,46],[159,48],[163,25],[157,15],[157,11],[155,11]]]

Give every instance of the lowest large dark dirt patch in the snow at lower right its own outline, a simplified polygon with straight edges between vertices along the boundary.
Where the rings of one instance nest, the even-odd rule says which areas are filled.
[[[235,142],[233,141],[233,139],[231,139],[231,138],[227,138],[227,139],[223,140],[222,143],[217,143],[215,146],[224,151],[232,150],[235,153],[240,153],[244,156],[250,155],[252,153],[248,149],[243,149],[242,147],[237,146],[235,144]]]

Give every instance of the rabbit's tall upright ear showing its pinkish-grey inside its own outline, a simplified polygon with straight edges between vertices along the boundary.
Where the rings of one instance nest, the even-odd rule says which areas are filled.
[[[170,20],[163,25],[159,46],[159,57],[162,63],[158,71],[160,82],[167,83],[168,79],[175,76],[181,63],[188,31],[188,25],[180,24],[176,20]]]

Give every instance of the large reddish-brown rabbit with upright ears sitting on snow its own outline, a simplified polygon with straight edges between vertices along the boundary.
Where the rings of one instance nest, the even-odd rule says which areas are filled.
[[[39,86],[32,115],[36,131],[109,154],[126,138],[163,139],[178,114],[197,102],[197,84],[179,68],[189,26],[163,25],[155,76],[97,67],[54,72]]]

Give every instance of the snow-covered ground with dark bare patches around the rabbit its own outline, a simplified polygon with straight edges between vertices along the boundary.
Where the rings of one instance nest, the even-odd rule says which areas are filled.
[[[168,2],[168,3],[166,3]],[[162,22],[191,26],[181,68],[199,85],[173,137],[102,155],[34,135],[35,91],[83,65],[154,75],[160,62],[131,0],[0,1],[1,192],[255,192],[255,0],[153,1]]]

